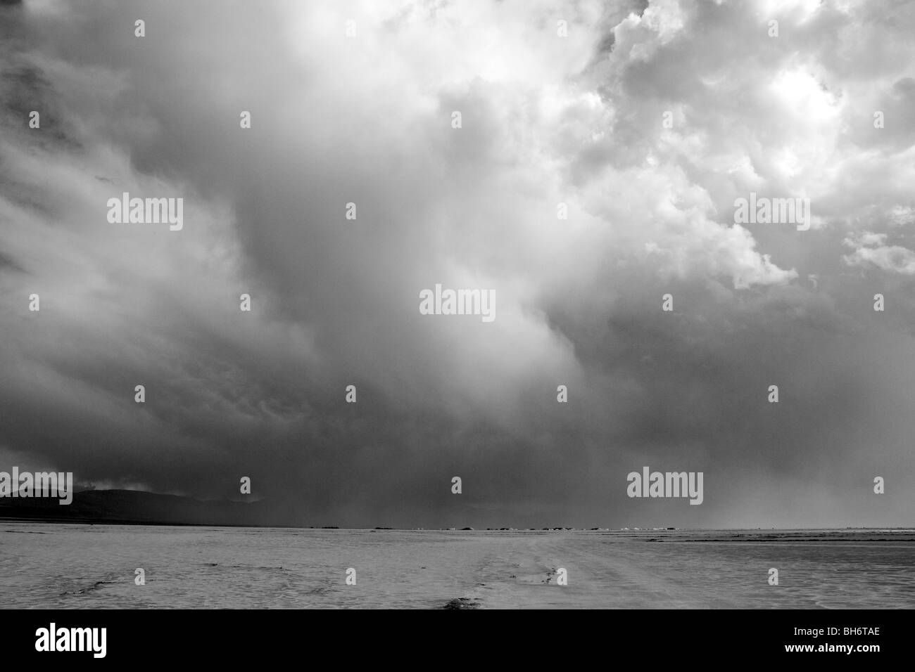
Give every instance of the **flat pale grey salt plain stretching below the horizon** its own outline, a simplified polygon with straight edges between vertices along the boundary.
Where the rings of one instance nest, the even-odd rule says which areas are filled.
[[[346,584],[349,568],[356,585]],[[915,532],[4,521],[0,595],[5,608],[911,608]]]

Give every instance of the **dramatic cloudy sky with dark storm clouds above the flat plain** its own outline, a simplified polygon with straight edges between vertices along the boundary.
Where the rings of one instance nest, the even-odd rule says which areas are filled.
[[[306,525],[911,525],[913,30],[893,1],[5,3],[0,469],[246,475]],[[110,223],[123,192],[183,229]],[[735,224],[750,192],[811,228]],[[421,315],[436,283],[496,319]],[[629,498],[644,465],[703,504]]]

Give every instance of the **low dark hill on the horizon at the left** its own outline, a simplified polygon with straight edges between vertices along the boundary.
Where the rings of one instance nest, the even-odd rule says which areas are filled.
[[[139,490],[84,490],[70,505],[53,498],[0,498],[0,518],[47,522],[123,523],[145,525],[293,525],[264,501],[201,502],[190,497]]]

